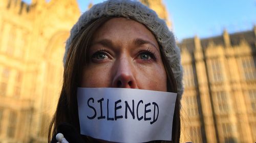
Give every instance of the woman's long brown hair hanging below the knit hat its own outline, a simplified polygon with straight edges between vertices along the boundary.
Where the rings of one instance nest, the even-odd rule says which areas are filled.
[[[86,51],[90,47],[93,34],[97,29],[106,21],[113,17],[101,17],[96,19],[86,26],[77,34],[72,41],[63,73],[63,84],[57,104],[57,109],[54,113],[50,123],[48,132],[48,142],[51,141],[53,135],[57,133],[57,126],[60,123],[66,122],[72,124],[75,129],[80,132],[78,108],[77,108],[77,87],[81,82],[82,68],[86,66]],[[167,73],[167,91],[177,93],[176,80],[173,76],[172,69],[170,68],[167,58],[160,47],[162,61]],[[180,140],[180,97],[176,99],[172,141],[179,142]]]

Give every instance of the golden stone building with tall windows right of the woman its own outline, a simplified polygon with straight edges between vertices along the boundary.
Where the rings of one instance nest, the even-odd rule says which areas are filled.
[[[256,26],[178,44],[184,68],[182,140],[255,142]]]

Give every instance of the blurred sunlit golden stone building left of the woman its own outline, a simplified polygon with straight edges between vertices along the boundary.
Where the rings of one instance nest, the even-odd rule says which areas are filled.
[[[47,142],[76,1],[0,3],[0,142]]]

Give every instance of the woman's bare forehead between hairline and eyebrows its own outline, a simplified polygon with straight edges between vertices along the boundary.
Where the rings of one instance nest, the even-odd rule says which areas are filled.
[[[123,17],[106,21],[95,32],[93,41],[101,39],[117,40],[117,38],[125,38],[126,41],[141,38],[158,45],[155,36],[146,26],[135,20]]]

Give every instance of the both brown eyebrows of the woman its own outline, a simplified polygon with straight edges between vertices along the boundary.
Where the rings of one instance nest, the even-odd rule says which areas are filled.
[[[133,43],[135,45],[137,45],[137,46],[140,46],[140,45],[143,45],[143,44],[150,44],[150,45],[152,45],[153,47],[155,47],[159,51],[157,46],[154,43],[152,43],[151,41],[147,41],[147,40],[143,40],[141,38],[137,38],[137,39],[133,40]],[[104,47],[114,47],[114,44],[109,39],[102,39],[100,41],[96,41],[92,45],[97,45],[97,44],[100,44],[100,45],[102,45]]]

